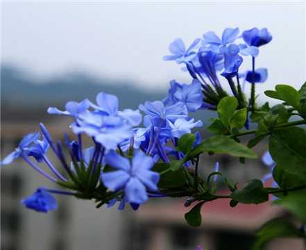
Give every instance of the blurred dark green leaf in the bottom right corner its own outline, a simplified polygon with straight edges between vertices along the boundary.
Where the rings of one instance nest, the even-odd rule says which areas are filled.
[[[272,219],[257,231],[256,236],[252,250],[264,249],[264,245],[275,238],[303,237],[303,234],[291,222],[284,219]]]

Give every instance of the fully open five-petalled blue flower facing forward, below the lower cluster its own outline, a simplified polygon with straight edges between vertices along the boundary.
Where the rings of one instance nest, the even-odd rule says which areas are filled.
[[[148,199],[148,190],[158,190],[159,174],[152,172],[153,159],[142,151],[137,151],[132,164],[127,158],[119,156],[115,151],[106,155],[106,163],[118,170],[101,174],[105,187],[111,190],[124,190],[130,203],[141,204]]]

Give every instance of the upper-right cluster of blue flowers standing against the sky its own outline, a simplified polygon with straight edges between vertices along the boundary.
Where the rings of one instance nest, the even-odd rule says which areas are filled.
[[[217,72],[221,72],[221,76],[226,78],[240,106],[246,106],[244,85],[240,85],[239,78],[253,84],[266,81],[267,70],[255,69],[255,58],[259,55],[259,47],[271,40],[272,36],[266,28],[251,28],[243,31],[241,35],[239,28],[226,28],[221,38],[209,31],[202,39],[194,40],[188,49],[180,38],[174,40],[169,46],[171,55],[164,56],[164,60],[176,60],[176,63],[185,65],[183,69],[189,72],[194,81],[201,83],[204,94],[203,108],[216,110],[219,100],[228,95]],[[252,70],[240,73],[243,56],[252,58],[253,67]],[[237,85],[233,78],[237,79]]]

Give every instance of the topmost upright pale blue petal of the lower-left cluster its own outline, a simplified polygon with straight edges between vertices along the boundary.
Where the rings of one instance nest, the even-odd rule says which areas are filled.
[[[118,98],[112,94],[100,92],[96,96],[96,103],[99,107],[94,106],[94,108],[102,110],[108,113],[108,115],[116,115],[118,112],[119,101]]]

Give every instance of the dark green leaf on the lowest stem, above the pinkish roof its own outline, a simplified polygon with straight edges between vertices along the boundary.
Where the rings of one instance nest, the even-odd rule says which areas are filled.
[[[264,189],[262,181],[253,179],[248,181],[244,188],[235,190],[230,194],[230,198],[240,203],[258,204],[269,200],[269,194]]]

